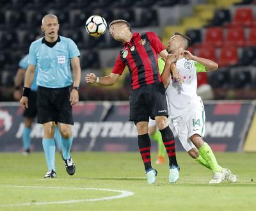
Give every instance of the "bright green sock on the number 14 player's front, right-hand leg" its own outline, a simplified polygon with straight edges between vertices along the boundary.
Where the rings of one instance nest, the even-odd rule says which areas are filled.
[[[214,156],[214,153],[212,152],[211,147],[206,142],[198,150],[199,150],[199,154],[207,162],[207,164],[209,165],[209,168],[212,169],[213,173],[222,170],[221,166],[219,166]]]

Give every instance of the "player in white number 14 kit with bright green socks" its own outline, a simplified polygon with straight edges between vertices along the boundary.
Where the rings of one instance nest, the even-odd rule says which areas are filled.
[[[169,114],[178,132],[182,146],[198,163],[212,170],[213,177],[210,184],[219,184],[227,179],[236,182],[237,177],[230,169],[222,168],[211,150],[202,139],[205,132],[205,113],[202,99],[196,94],[197,72],[209,72],[218,69],[218,64],[209,59],[193,56],[188,49],[190,39],[180,33],[173,33],[168,41],[168,56],[166,63],[162,61],[159,68],[163,68],[161,77],[168,97]],[[177,68],[183,77],[173,79],[170,70]]]

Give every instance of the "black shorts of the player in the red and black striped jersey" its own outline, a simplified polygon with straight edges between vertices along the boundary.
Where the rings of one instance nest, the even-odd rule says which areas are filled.
[[[149,84],[132,90],[129,98],[130,121],[138,123],[155,116],[168,116],[168,105],[163,83]]]

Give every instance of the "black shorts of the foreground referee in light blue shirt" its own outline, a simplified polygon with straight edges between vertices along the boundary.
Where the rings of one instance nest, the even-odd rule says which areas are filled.
[[[74,125],[69,97],[69,86],[64,88],[38,86],[38,123],[56,121]]]

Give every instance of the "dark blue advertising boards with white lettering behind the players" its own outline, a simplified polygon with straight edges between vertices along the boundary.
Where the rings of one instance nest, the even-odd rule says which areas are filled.
[[[214,151],[243,151],[246,135],[253,132],[255,134],[255,129],[250,128],[255,104],[256,100],[205,101],[204,139]],[[22,113],[23,110],[17,102],[0,103],[0,152],[22,150]],[[73,114],[73,151],[138,150],[136,127],[128,121],[128,102],[79,102],[74,106]],[[32,150],[42,151],[42,134],[42,125],[35,123],[31,131]],[[175,131],[174,134],[177,150],[183,150]],[[249,148],[252,148],[249,151],[256,152],[256,137],[248,138]],[[156,147],[156,143],[152,141],[152,150],[156,150]]]

